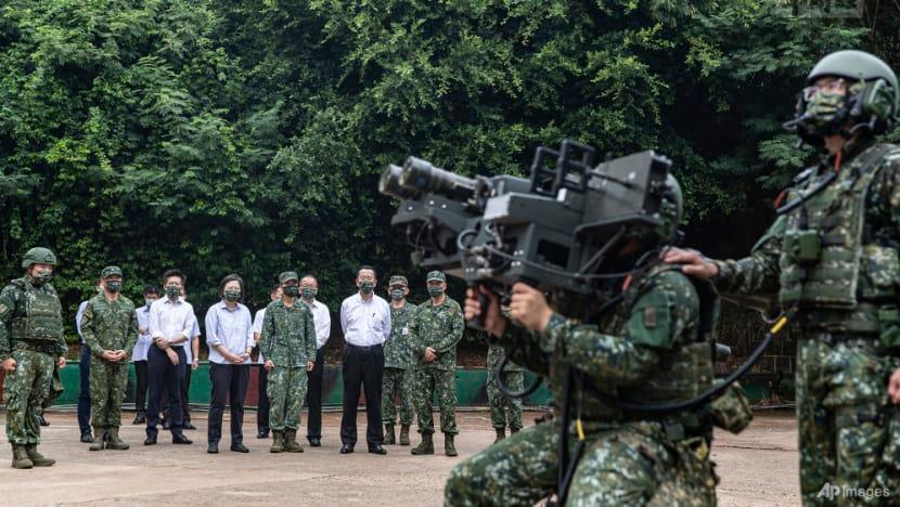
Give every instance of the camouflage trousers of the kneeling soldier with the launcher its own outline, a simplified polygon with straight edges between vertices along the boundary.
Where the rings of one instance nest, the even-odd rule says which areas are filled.
[[[535,505],[556,492],[558,444],[558,424],[547,422],[491,445],[453,468],[445,505]],[[664,445],[627,428],[589,431],[566,505],[716,505],[708,451],[702,438]]]

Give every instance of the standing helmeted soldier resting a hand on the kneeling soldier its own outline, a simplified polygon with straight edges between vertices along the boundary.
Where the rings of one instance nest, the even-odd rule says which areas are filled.
[[[721,291],[779,292],[797,339],[806,505],[831,504],[820,494],[827,486],[898,491],[900,434],[888,440],[886,429],[898,431],[900,416],[886,418],[900,412],[887,402],[885,378],[900,362],[900,148],[876,135],[897,123],[899,94],[893,70],[869,53],[838,51],[820,60],[790,123],[821,159],[794,179],[780,217],[750,256],[666,256]]]

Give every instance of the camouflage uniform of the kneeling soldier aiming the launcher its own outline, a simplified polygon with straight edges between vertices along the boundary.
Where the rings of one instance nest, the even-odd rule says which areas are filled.
[[[699,330],[694,284],[677,271],[654,271],[633,283],[599,326],[554,314],[543,333],[511,324],[499,339],[513,361],[548,376],[555,400],[565,400],[566,380],[573,379],[573,417],[581,414],[586,441],[569,487],[571,505],[716,504],[709,422],[691,414],[654,419],[623,413],[584,387],[591,382],[632,403],[659,403],[693,398],[711,384],[711,337]],[[554,417],[525,429],[457,466],[446,505],[530,506],[552,494],[560,467],[568,465],[558,463],[560,424]],[[573,422],[569,455],[576,442]]]

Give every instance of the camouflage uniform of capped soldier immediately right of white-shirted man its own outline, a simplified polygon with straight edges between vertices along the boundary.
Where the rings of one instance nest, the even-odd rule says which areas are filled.
[[[390,336],[384,344],[382,380],[382,422],[385,425],[394,425],[397,420],[395,395],[400,399],[400,424],[412,425],[412,320],[417,311],[419,308],[410,302],[401,308],[390,307]]]

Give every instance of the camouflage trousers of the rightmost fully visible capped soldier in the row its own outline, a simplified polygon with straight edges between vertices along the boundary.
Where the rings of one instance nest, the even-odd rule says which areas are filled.
[[[432,413],[435,392],[440,407],[440,431],[458,434],[457,429],[457,373],[450,369],[420,367],[414,369],[412,395],[419,432],[435,432],[435,417]]]

